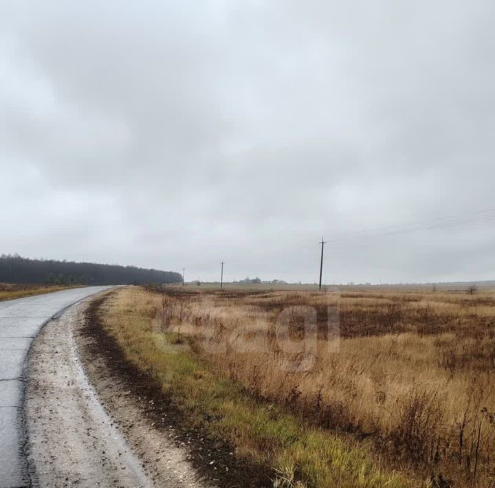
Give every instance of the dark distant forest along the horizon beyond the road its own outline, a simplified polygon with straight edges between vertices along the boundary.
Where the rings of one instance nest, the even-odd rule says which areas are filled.
[[[17,254],[0,256],[0,282],[5,283],[148,285],[181,281],[181,274],[159,269],[28,259]]]

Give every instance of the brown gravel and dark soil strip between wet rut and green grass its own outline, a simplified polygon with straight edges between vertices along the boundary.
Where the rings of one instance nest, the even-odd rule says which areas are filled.
[[[272,486],[263,469],[239,463],[227,441],[214,439],[208,432],[188,425],[158,381],[124,357],[101,324],[100,307],[108,296],[93,300],[87,308],[85,323],[79,331],[80,357],[103,405],[121,426],[137,455],[148,460],[148,472],[159,480],[170,467],[180,465],[185,456],[199,473],[201,486]],[[175,450],[168,447],[170,443]],[[188,478],[188,483],[192,482]]]

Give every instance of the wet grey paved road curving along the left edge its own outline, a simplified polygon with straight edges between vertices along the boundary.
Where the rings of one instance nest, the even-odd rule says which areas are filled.
[[[65,308],[108,288],[70,289],[0,302],[0,488],[30,485],[23,395],[32,340],[45,322]]]

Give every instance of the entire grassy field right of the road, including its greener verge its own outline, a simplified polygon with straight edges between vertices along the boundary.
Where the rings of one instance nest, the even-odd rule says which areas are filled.
[[[129,288],[106,317],[278,486],[494,486],[491,291]]]

